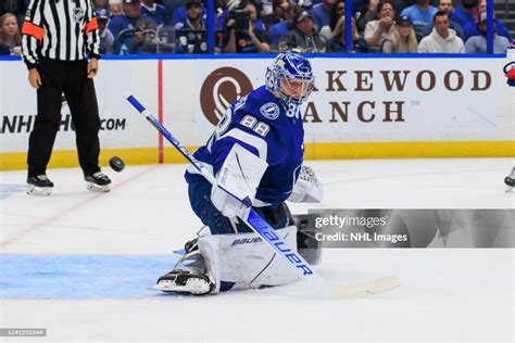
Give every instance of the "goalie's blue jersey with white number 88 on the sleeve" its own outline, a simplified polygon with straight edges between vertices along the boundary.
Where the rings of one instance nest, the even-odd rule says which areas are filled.
[[[304,158],[302,118],[288,117],[278,99],[260,87],[227,109],[208,143],[193,155],[216,175],[235,143],[268,163],[254,205],[276,206],[288,199]],[[186,180],[203,177],[190,167]]]

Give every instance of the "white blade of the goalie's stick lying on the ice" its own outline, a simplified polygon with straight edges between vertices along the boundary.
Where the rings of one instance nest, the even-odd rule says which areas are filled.
[[[401,285],[397,277],[390,276],[357,283],[331,285],[332,298],[359,298],[391,291]]]

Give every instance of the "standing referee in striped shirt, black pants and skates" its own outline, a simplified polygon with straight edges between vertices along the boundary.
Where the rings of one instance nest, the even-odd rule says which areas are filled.
[[[37,89],[38,114],[28,140],[27,193],[50,195],[46,175],[61,122],[62,94],[72,112],[78,162],[88,190],[109,191],[99,167],[100,117],[93,77],[100,37],[90,0],[32,0],[22,27],[28,81]],[[89,61],[88,61],[89,56]]]

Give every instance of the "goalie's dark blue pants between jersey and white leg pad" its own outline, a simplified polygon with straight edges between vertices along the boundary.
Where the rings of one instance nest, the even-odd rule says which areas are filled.
[[[212,234],[236,232],[253,232],[244,223],[231,223],[211,202],[211,183],[208,180],[191,182],[188,187],[191,208],[202,223],[210,228]],[[277,207],[253,207],[274,229],[293,225],[293,217],[286,203]]]

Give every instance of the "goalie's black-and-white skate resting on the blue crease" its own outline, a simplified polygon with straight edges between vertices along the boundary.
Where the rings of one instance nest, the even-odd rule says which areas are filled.
[[[206,276],[177,269],[159,278],[158,284],[151,289],[154,291],[202,295],[210,293],[213,288],[214,284]]]

